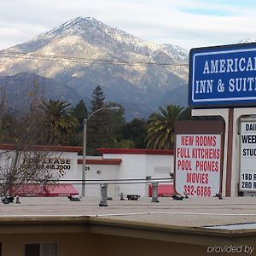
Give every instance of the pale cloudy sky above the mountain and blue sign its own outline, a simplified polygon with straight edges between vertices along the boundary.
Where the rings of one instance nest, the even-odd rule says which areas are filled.
[[[256,38],[254,0],[0,0],[0,49],[78,16],[185,49]]]

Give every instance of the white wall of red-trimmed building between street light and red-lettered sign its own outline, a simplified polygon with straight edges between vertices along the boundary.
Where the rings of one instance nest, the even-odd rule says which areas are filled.
[[[170,178],[170,172],[173,172],[174,157],[171,154],[103,154],[102,157],[103,160],[120,159],[122,161],[119,165],[86,164],[90,170],[86,171],[85,177],[88,180],[87,183],[93,183],[90,182],[93,179],[98,180],[98,183],[101,183],[102,180],[110,180],[107,182],[109,196],[119,197],[120,193],[148,196],[148,184],[150,182],[144,182],[146,177]],[[91,159],[91,157],[89,156],[87,159]],[[81,178],[83,165],[80,164],[78,168],[79,179]],[[118,179],[127,181],[125,183],[114,183]],[[141,179],[141,181],[132,183],[131,179]],[[80,186],[77,185],[76,188],[79,189],[79,192],[81,191]],[[100,196],[100,184],[88,184],[85,189],[86,196]]]

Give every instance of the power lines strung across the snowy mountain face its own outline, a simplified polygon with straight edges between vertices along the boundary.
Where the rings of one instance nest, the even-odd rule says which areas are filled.
[[[126,66],[160,66],[160,67],[189,67],[186,63],[164,63],[154,61],[123,61],[108,59],[87,59],[84,57],[72,57],[65,55],[40,55],[25,52],[0,51],[0,55],[10,59],[25,59],[31,61],[61,61],[81,64],[126,65]]]

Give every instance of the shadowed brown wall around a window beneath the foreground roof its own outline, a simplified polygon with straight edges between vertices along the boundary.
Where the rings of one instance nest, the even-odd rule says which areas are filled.
[[[5,234],[0,241],[4,256],[24,256],[25,244],[52,241],[58,243],[58,256],[207,255],[207,247],[88,233]]]

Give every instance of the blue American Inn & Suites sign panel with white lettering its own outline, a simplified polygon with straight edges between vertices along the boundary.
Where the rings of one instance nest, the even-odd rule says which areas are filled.
[[[191,49],[189,106],[256,106],[256,44]]]

